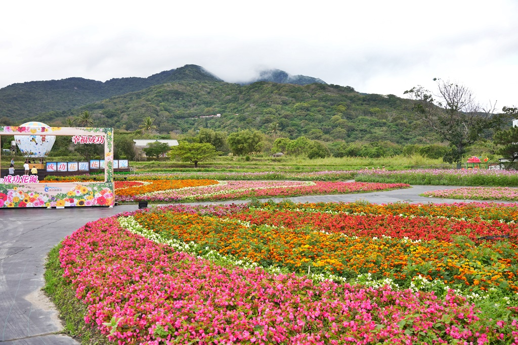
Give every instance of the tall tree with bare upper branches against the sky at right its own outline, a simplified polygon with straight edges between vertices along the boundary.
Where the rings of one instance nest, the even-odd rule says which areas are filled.
[[[422,86],[412,87],[405,94],[414,101],[415,119],[449,142],[450,150],[444,155],[444,161],[460,162],[466,146],[482,139],[487,130],[500,128],[509,116],[507,113],[495,114],[494,104],[488,109],[482,108],[471,90],[462,84],[434,80],[437,99]]]

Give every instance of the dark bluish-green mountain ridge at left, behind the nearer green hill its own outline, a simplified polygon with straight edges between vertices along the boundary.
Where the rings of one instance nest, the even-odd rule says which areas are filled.
[[[17,83],[0,89],[0,117],[5,116],[13,122],[19,122],[37,114],[75,109],[153,85],[183,80],[221,81],[203,67],[185,65],[148,78],[116,78],[106,82],[67,78]]]

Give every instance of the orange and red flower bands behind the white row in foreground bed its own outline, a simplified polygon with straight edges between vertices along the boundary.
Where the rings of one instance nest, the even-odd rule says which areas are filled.
[[[300,206],[301,207],[301,206]],[[224,255],[296,273],[354,278],[370,273],[409,287],[421,275],[470,292],[518,292],[518,224],[437,217],[329,214],[255,209],[218,215],[178,212],[135,215],[142,227]],[[237,220],[237,221],[236,221]],[[503,239],[487,241],[485,237]]]

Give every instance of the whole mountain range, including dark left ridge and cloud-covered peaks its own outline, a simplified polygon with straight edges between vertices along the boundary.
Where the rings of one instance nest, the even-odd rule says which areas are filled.
[[[64,125],[67,117],[88,110],[95,126],[127,131],[139,129],[149,116],[160,133],[250,128],[327,142],[437,142],[412,122],[407,99],[360,94],[280,70],[263,71],[259,78],[268,81],[226,83],[203,67],[185,65],[104,83],[68,78],[13,84],[0,89],[0,123]]]

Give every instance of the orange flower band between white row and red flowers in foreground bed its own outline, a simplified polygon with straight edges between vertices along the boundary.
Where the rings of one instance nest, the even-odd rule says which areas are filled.
[[[300,204],[297,206],[302,207]],[[373,278],[390,277],[403,286],[408,286],[413,277],[421,275],[469,291],[498,286],[518,291],[518,279],[514,274],[518,264],[515,254],[518,247],[510,241],[479,244],[467,239],[412,241],[398,236],[396,229],[387,230],[392,237],[380,235],[374,230],[370,235],[358,231],[358,237],[354,234],[347,236],[338,229],[335,232],[320,231],[316,219],[299,222],[298,217],[306,214],[301,211],[272,211],[268,215],[243,209],[235,214],[223,212],[217,216],[218,209],[223,208],[216,207],[212,211],[214,215],[167,212],[163,209],[161,212],[137,213],[134,217],[143,227],[163,236],[185,243],[193,241],[224,255],[248,258],[263,266],[287,267],[299,273],[307,272],[308,268],[314,273],[327,272],[346,278],[370,273]],[[282,213],[283,227],[264,226],[271,224],[268,218],[277,213]],[[252,215],[250,226],[226,218],[239,217],[240,214]],[[333,217],[326,214],[320,216]],[[340,216],[335,217],[339,228]],[[361,218],[350,218],[355,217]],[[374,217],[372,221],[378,221],[381,227],[385,222],[387,229],[391,228],[390,223],[403,224],[408,220],[378,218]],[[463,227],[465,234],[472,228],[465,222],[454,223],[457,228]],[[419,222],[414,225],[415,231],[419,232]],[[457,231],[460,234],[462,229]],[[373,236],[375,234],[379,237]]]

